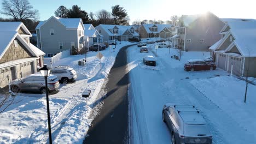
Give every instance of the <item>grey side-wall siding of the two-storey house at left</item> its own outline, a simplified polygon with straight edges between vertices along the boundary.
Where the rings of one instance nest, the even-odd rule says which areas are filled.
[[[54,35],[50,35],[50,29],[54,29]],[[71,42],[75,43],[75,48],[79,46],[78,30],[67,30],[59,21],[53,17],[40,27],[42,50],[45,53],[59,53],[71,49]],[[63,43],[60,49],[59,42]]]

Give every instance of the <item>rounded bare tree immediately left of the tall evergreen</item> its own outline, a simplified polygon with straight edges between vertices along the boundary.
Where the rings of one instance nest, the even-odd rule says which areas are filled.
[[[98,11],[95,16],[101,24],[113,24],[114,22],[111,13],[104,9]]]

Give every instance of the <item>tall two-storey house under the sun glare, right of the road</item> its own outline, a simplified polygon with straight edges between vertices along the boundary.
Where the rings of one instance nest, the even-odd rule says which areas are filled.
[[[172,38],[173,46],[185,51],[208,51],[222,36],[220,29],[225,23],[216,15],[207,12],[200,15],[182,15],[177,35]]]

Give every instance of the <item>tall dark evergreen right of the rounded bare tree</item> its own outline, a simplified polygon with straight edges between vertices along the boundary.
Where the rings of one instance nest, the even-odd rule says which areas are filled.
[[[120,7],[120,5],[112,6],[112,15],[114,17],[115,25],[126,25],[129,23],[129,19],[127,19],[127,13],[124,7]]]

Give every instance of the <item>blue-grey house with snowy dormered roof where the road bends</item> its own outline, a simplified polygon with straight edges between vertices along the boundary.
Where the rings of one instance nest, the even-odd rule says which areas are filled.
[[[119,41],[128,41],[132,37],[139,37],[136,29],[132,26],[119,25],[98,25],[95,27],[103,35],[103,41],[117,39]]]

